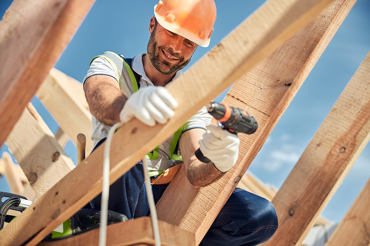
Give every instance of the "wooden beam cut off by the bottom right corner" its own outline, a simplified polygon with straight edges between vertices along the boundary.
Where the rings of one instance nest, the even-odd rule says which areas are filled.
[[[325,246],[363,246],[370,244],[370,179],[335,228]]]

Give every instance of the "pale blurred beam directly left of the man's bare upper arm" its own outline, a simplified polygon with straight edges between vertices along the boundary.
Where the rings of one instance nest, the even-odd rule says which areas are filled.
[[[53,68],[36,95],[76,146],[79,133],[87,136],[86,153],[90,154],[93,146],[91,114],[85,107],[82,84]]]

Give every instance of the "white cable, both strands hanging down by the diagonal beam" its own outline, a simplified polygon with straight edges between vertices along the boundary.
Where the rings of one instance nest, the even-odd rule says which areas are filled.
[[[101,207],[100,207],[100,231],[99,231],[99,246],[105,246],[107,243],[107,223],[108,223],[108,198],[109,198],[109,171],[110,171],[110,150],[112,137],[117,129],[122,123],[114,124],[109,130],[107,140],[105,140],[104,146],[104,163],[103,163],[103,188],[101,192]],[[145,156],[142,160],[145,182],[147,182],[147,196],[149,202],[149,210],[152,217],[152,226],[155,246],[161,246],[161,238],[159,237],[159,226],[157,219],[157,211],[155,209],[154,197],[152,193],[152,184],[149,179],[148,174],[148,164]]]

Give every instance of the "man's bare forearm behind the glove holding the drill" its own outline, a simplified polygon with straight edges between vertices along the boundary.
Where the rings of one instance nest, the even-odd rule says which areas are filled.
[[[195,128],[185,131],[180,138],[179,147],[182,160],[184,160],[186,176],[195,188],[204,187],[218,180],[223,172],[220,172],[212,162],[202,163],[195,156],[195,150],[199,148],[199,139],[205,133],[204,129]]]

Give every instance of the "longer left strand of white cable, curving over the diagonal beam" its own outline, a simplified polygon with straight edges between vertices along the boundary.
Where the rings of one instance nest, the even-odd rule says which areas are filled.
[[[112,137],[117,127],[122,123],[114,124],[109,130],[107,140],[104,146],[104,163],[103,163],[103,188],[101,192],[100,206],[100,231],[99,231],[99,246],[105,246],[107,243],[107,223],[108,223],[108,198],[109,198],[109,171],[110,171],[110,150]]]

